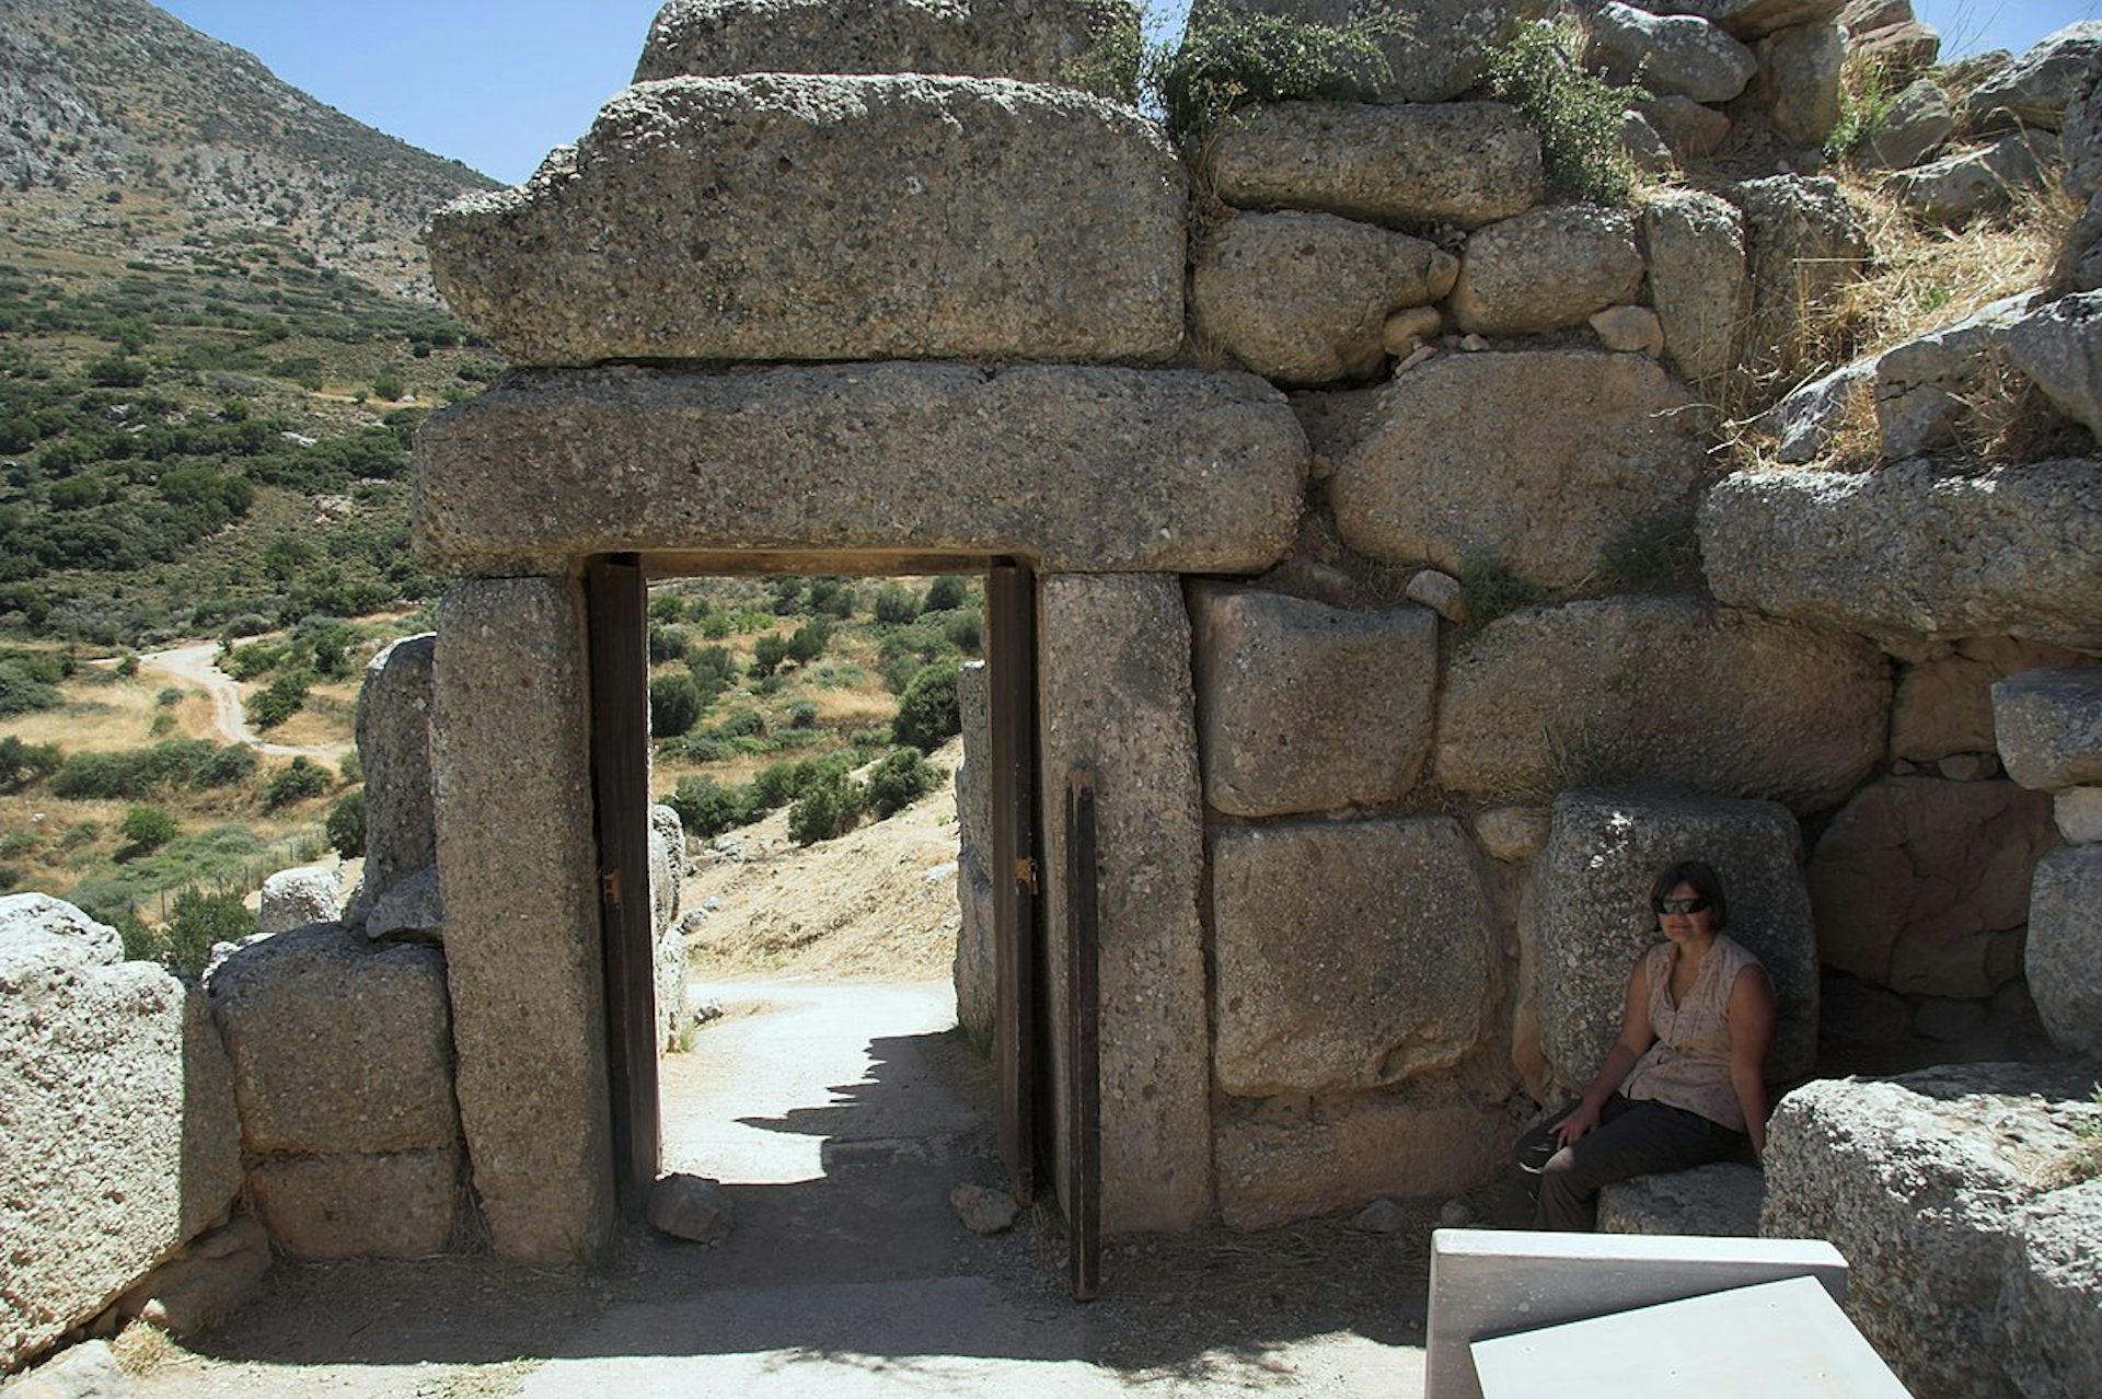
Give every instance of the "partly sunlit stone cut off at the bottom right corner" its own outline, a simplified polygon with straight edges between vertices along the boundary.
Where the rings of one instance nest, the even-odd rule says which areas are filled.
[[[2022,1214],[2022,1256],[2001,1304],[2007,1374],[2022,1395],[2102,1395],[2102,1181]]]

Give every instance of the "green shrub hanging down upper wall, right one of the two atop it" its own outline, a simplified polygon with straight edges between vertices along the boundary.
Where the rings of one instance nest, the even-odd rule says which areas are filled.
[[[1648,92],[1616,88],[1583,71],[1570,57],[1576,42],[1545,21],[1522,25],[1509,44],[1488,55],[1482,82],[1539,132],[1551,193],[1621,204],[1635,187],[1621,122]]]

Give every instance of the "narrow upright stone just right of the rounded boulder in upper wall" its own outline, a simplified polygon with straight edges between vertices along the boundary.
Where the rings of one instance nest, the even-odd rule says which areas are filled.
[[[1751,315],[1745,216],[1711,193],[1665,189],[1642,206],[1642,239],[1671,366],[1694,382],[1730,370]]]

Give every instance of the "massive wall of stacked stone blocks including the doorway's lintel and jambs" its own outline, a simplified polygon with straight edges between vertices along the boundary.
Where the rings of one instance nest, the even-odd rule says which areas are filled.
[[[2041,1023],[2024,985],[2087,933],[2026,931],[2081,907],[2085,855],[2045,851],[2049,821],[2096,840],[2096,784],[2024,779],[1991,687],[2102,649],[2102,468],[2060,433],[2043,462],[1833,471],[1827,393],[1776,418],[1801,471],[1730,475],[1717,380],[1789,363],[1869,254],[1839,185],[1551,197],[1539,137],[1471,90],[1537,6],[1396,8],[1394,90],[1228,124],[1202,218],[1146,120],[1047,82],[1091,21],[883,0],[679,0],[578,147],[439,214],[441,290],[519,366],[416,447],[416,548],[462,578],[433,786],[498,1252],[610,1229],[574,582],[603,552],[1036,569],[1053,1004],[1066,775],[1099,792],[1112,1231],[1490,1178],[1595,1065],[1669,859],[1722,868],[1768,960],[1776,1086],[2085,1015],[2091,979]],[[1631,141],[1808,168],[1837,0],[1606,8],[1610,63],[1684,59]],[[1980,355],[2102,422],[2060,372],[2087,317],[2052,305],[1885,366],[1890,443],[1940,433]]]

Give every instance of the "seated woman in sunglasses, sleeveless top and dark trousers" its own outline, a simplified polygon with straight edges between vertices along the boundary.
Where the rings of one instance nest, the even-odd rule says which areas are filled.
[[[1518,1147],[1534,1229],[1593,1229],[1614,1181],[1766,1151],[1761,1065],[1774,1038],[1766,968],[1722,935],[1728,907],[1698,859],[1650,886],[1665,935],[1627,979],[1621,1038],[1591,1090]]]

